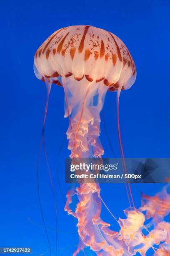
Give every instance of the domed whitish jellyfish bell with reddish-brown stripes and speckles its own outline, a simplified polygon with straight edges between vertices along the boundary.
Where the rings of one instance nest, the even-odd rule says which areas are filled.
[[[34,57],[38,79],[74,77],[101,82],[109,90],[128,89],[136,69],[125,44],[114,34],[93,26],[69,26],[57,30],[40,46]],[[84,79],[84,83],[85,83]]]

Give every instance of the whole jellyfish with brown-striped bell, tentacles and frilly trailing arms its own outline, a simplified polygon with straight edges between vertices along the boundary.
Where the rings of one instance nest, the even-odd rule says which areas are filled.
[[[47,87],[43,131],[51,85],[63,87],[64,117],[69,118],[66,134],[72,161],[83,158],[102,159],[104,149],[99,139],[100,112],[107,91],[117,92],[120,154],[123,172],[127,172],[120,134],[119,97],[122,90],[128,90],[135,82],[136,68],[129,50],[120,38],[93,26],[61,28],[47,38],[36,51],[34,72]],[[143,210],[151,212],[152,202],[148,199],[148,202],[143,203],[141,209],[137,210],[129,182],[125,185],[130,207],[125,210],[127,218],[119,220],[102,200],[98,183],[81,183],[67,192],[65,211],[77,218],[80,237],[74,256],[88,246],[98,256],[130,256],[137,252],[144,256],[149,248],[162,241],[165,241],[166,246],[161,244],[160,253],[169,250],[169,226],[162,218],[152,233],[147,228],[149,233],[144,235],[142,229],[145,228],[146,216]],[[73,196],[78,198],[74,211],[70,207]],[[119,232],[111,230],[110,223],[101,219],[102,203],[119,223]],[[157,253],[156,249],[154,250]]]

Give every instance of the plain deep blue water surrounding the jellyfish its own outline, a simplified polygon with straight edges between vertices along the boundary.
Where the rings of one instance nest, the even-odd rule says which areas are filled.
[[[169,157],[169,13],[168,0],[0,1],[0,246],[29,246],[35,255],[48,249],[36,187],[37,151],[46,98],[44,83],[33,73],[33,56],[37,48],[54,31],[70,25],[92,25],[119,36],[137,67],[135,84],[120,97],[125,156]],[[64,182],[64,159],[69,155],[67,140],[57,159],[68,126],[68,120],[63,118],[63,96],[63,89],[54,85],[47,114],[46,144],[57,192],[58,247],[63,248],[58,250],[58,255],[72,255],[78,236],[72,234],[76,232],[75,223],[63,210],[64,202],[56,182],[58,166],[65,195],[69,187]],[[115,103],[115,93],[108,92],[104,106],[105,123],[118,157]],[[103,124],[101,130],[105,156],[112,157]],[[47,226],[55,228],[52,192],[43,155],[41,159],[43,210]],[[136,206],[140,206],[140,192],[154,195],[161,187],[161,184],[133,185]],[[117,218],[124,217],[128,200],[123,185],[102,185],[101,195]],[[102,218],[117,230],[117,224],[104,207]],[[55,246],[54,233],[49,230],[52,248]]]

